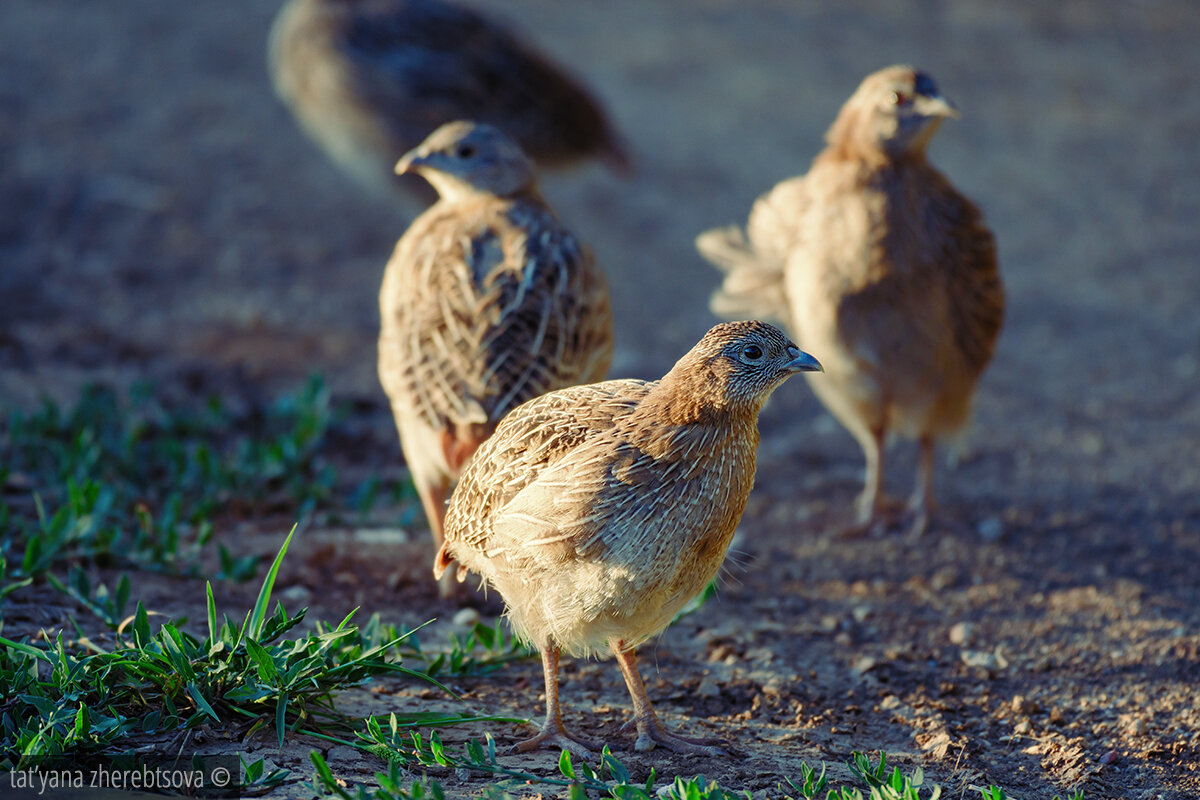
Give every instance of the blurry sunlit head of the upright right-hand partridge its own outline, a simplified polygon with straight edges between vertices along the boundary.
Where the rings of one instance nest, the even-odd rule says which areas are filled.
[[[864,154],[922,154],[942,120],[958,115],[928,74],[908,66],[887,67],[859,84],[826,139]]]

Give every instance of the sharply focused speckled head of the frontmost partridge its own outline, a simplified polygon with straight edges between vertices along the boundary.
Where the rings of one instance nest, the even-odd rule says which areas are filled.
[[[757,414],[770,393],[821,363],[774,325],[757,320],[716,325],[662,378],[679,408]]]

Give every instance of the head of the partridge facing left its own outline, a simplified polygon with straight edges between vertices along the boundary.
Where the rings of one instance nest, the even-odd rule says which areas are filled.
[[[396,163],[396,174],[418,173],[443,198],[487,193],[509,197],[534,185],[533,161],[499,128],[446,122]]]

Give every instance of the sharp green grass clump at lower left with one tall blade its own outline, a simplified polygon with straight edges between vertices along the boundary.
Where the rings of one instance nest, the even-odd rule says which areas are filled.
[[[407,634],[365,639],[350,624],[353,612],[337,625],[288,638],[305,612],[288,615],[282,604],[274,612],[269,607],[290,540],[289,534],[240,624],[228,615],[218,620],[209,584],[204,638],[175,620],[152,631],[140,603],[128,630],[119,631],[116,646],[107,650],[86,639],[68,644],[62,634],[42,646],[0,638],[0,766],[116,753],[132,736],[239,717],[250,721],[245,735],[274,727],[281,745],[294,730],[342,741],[330,734],[349,735],[361,721],[336,710],[335,692],[384,674],[445,690],[425,672],[395,660]],[[404,723],[475,718],[415,714]]]

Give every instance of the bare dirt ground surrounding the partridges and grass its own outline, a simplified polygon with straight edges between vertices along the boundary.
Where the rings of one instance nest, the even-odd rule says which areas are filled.
[[[362,401],[372,431],[371,452],[340,457],[398,464],[374,377],[376,296],[412,210],[360,191],[275,101],[276,7],[0,4],[5,402],[133,378],[275,392],[318,372]],[[763,415],[724,588],[642,657],[667,721],[724,736],[736,757],[634,753],[616,733],[629,702],[611,662],[565,666],[568,723],[611,741],[635,776],[703,772],[757,796],[799,760],[838,765],[851,748],[920,764],[955,798],[986,781],[1022,799],[1200,796],[1200,5],[511,0],[502,12],[570,56],[638,161],[624,182],[599,167],[545,181],[611,277],[613,375],[662,374],[715,321],[716,275],[692,237],[806,169],[859,79],[892,62],[923,66],[962,109],[932,160],[984,209],[1009,293],[970,450],[940,467],[942,516],[918,542],[835,535],[860,455],[802,381]],[[899,492],[913,453],[893,453]],[[224,535],[274,553],[289,523]],[[446,616],[425,534],[412,533],[380,546],[310,529],[284,587],[319,618],[358,603]],[[169,587],[146,590],[178,606]],[[222,591],[234,607],[251,589]],[[534,663],[462,687],[480,708],[541,710]],[[347,702],[382,711],[410,691]],[[524,733],[487,729],[502,744]],[[307,748],[328,747],[254,746],[300,777]],[[335,771],[378,768],[344,750],[330,752]],[[511,763],[553,770],[550,754]],[[455,796],[481,786],[439,780]]]

